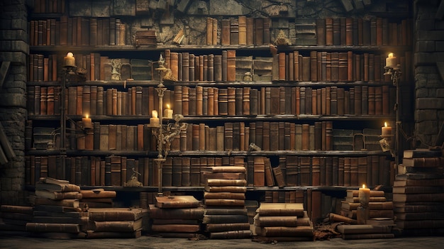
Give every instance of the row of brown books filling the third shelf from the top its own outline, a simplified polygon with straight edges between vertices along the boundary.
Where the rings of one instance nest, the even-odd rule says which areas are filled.
[[[28,114],[60,114],[60,87],[28,86]],[[174,86],[163,96],[162,109],[183,116],[256,115],[389,115],[396,89],[355,87],[185,87]],[[126,91],[101,86],[65,89],[68,115],[150,116],[159,109],[155,87],[128,87]]]

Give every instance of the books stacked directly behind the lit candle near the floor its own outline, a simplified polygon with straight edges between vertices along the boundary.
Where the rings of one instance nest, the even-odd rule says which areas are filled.
[[[357,219],[357,208],[360,206],[359,190],[348,189],[345,201],[341,201],[340,214],[342,216]],[[370,201],[368,204],[369,215],[367,225],[374,226],[393,226],[394,212],[393,201],[387,201],[385,192],[382,190],[371,190]]]

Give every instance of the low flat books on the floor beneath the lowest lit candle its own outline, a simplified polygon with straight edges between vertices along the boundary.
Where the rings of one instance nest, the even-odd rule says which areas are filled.
[[[342,233],[344,240],[356,240],[367,238],[394,238],[392,226],[362,225],[339,225],[336,227]]]

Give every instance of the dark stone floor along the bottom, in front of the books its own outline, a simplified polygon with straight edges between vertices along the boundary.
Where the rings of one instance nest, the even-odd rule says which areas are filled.
[[[141,236],[140,238],[114,239],[48,239],[31,238],[15,233],[0,233],[0,248],[11,249],[111,249],[111,248],[389,248],[421,249],[443,248],[444,236],[408,237],[372,240],[343,240],[333,238],[323,241],[257,243],[250,239],[230,240],[187,240],[185,238],[157,238]]]

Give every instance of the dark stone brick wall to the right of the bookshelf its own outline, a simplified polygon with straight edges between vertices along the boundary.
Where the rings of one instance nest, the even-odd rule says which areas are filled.
[[[444,1],[415,1],[415,135],[432,145],[444,121]]]

